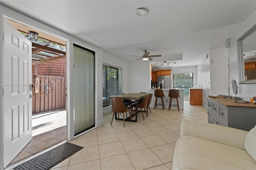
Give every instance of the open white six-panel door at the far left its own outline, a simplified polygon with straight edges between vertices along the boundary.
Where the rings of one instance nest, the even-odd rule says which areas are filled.
[[[32,139],[32,43],[4,19],[4,167]]]

